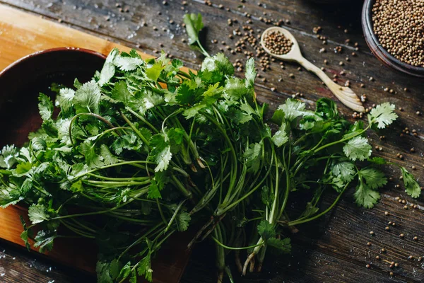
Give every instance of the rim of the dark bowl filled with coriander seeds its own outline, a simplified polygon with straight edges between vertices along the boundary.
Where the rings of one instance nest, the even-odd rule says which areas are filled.
[[[401,68],[404,68],[404,69],[399,69],[400,71],[407,72],[408,74],[411,74],[411,71],[424,74],[424,67],[416,67],[411,64],[401,62],[399,59],[396,59],[393,55],[387,52],[387,50],[385,50],[384,47],[382,47],[382,45],[379,43],[377,35],[375,35],[374,33],[373,23],[372,23],[372,6],[373,4],[375,4],[375,1],[376,0],[365,0],[364,6],[363,6],[363,18],[365,18],[365,21],[363,23],[363,28],[366,28],[368,30],[370,37],[372,39],[372,42],[374,43],[377,50],[379,52],[382,52],[385,57],[390,59],[391,62],[394,62],[394,64],[399,65],[399,67]],[[405,69],[408,69],[408,71],[406,71]]]

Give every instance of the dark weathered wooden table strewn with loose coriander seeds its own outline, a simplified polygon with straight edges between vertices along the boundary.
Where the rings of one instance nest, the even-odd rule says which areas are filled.
[[[269,26],[263,18],[283,20],[283,25],[298,39],[305,57],[325,67],[331,76],[338,74],[339,83],[350,81],[355,93],[366,94],[367,107],[386,101],[396,104],[400,117],[396,125],[379,134],[370,133],[373,146],[379,148],[374,154],[396,160],[410,169],[415,166],[413,173],[423,179],[424,117],[417,111],[424,112],[424,81],[383,67],[371,54],[360,26],[362,1],[340,1],[340,6],[322,6],[306,0],[208,2],[211,4],[203,0],[0,0],[0,3],[129,47],[138,47],[147,53],[155,54],[163,49],[192,68],[197,68],[202,58],[183,42],[187,37],[181,27],[184,13],[204,16],[207,50],[214,54],[223,48],[233,61],[239,58],[242,62],[244,54],[233,55],[226,50],[226,46],[233,48],[238,40],[237,36],[230,39],[233,30],[239,28],[244,33],[242,25],[250,25],[258,35]],[[228,19],[233,21],[231,26]],[[327,37],[326,45],[313,32],[318,26],[322,27],[320,35]],[[355,50],[355,42],[358,42],[358,50]],[[334,52],[338,46],[342,52]],[[322,48],[326,52],[319,52]],[[328,60],[325,66],[324,59]],[[341,71],[345,75],[341,75]],[[319,97],[332,97],[316,77],[299,70],[295,64],[285,63],[285,69],[281,69],[278,62],[272,62],[270,70],[259,74],[262,78],[257,80],[256,87],[259,100],[270,103],[273,108],[295,93],[303,93],[302,99],[311,106]],[[291,79],[289,74],[294,74],[295,78]],[[271,88],[276,89],[271,91]],[[340,103],[338,106],[343,114],[351,117],[350,110]],[[409,132],[401,137],[405,127]],[[386,138],[379,139],[379,135]],[[411,148],[415,151],[411,152]],[[396,154],[403,155],[404,159],[400,160]],[[235,275],[236,282],[423,282],[424,261],[418,260],[424,257],[423,198],[411,200],[406,197],[403,187],[396,187],[401,183],[399,171],[388,168],[387,173],[393,180],[382,190],[382,200],[374,209],[358,208],[353,201],[353,190],[350,190],[331,214],[313,224],[298,227],[300,232],[292,237],[291,255],[270,257],[261,274]],[[416,209],[404,209],[405,204],[395,200],[396,197],[401,197],[406,204],[417,204]],[[386,231],[389,221],[396,226]],[[374,231],[375,236],[370,236],[370,231]],[[399,237],[401,233],[404,238]],[[418,241],[413,241],[414,236],[418,236]],[[382,248],[385,253],[381,252]],[[182,282],[216,282],[213,253],[211,243],[199,243]],[[381,260],[375,259],[377,255]],[[408,259],[410,256],[413,258]],[[390,269],[392,261],[399,267]],[[367,264],[370,269],[365,267]],[[393,277],[390,271],[394,272]],[[0,282],[47,283],[53,280],[55,283],[95,282],[90,275],[0,242]]]

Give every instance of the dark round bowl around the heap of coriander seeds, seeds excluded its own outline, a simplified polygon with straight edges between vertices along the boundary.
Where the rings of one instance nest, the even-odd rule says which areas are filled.
[[[392,69],[396,69],[412,76],[424,78],[423,67],[414,67],[410,64],[399,61],[379,44],[377,35],[375,35],[372,25],[372,6],[374,3],[375,0],[365,0],[362,12],[364,37],[368,47],[370,47],[372,54],[374,54],[375,57],[377,57],[386,66],[391,67]]]

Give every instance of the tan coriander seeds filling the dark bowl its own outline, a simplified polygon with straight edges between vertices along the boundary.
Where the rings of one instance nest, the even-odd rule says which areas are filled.
[[[372,23],[387,52],[401,62],[424,67],[424,0],[377,0]]]

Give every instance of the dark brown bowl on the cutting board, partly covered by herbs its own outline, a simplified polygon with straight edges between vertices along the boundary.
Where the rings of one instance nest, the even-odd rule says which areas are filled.
[[[60,47],[25,56],[1,71],[0,146],[21,146],[30,132],[40,128],[40,92],[53,98],[52,83],[72,87],[76,78],[89,81],[105,58],[92,50]]]

